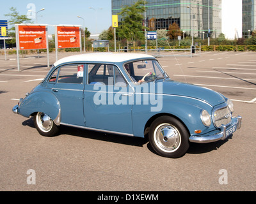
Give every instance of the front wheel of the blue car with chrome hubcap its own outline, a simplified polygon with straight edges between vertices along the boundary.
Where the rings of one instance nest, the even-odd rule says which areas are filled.
[[[152,148],[164,157],[181,157],[189,148],[188,131],[179,120],[170,116],[154,120],[148,136]]]

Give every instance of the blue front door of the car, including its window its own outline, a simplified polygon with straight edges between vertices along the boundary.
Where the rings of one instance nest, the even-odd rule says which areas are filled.
[[[84,86],[84,117],[88,128],[133,135],[132,103],[134,93],[117,66],[87,64]]]

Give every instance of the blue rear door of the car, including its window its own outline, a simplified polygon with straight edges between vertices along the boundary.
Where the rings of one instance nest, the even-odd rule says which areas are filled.
[[[49,78],[52,94],[60,102],[61,124],[84,126],[84,64],[60,66]]]

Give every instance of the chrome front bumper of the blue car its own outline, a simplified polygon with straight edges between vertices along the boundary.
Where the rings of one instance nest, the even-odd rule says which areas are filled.
[[[234,125],[236,125],[236,129],[240,129],[241,122],[242,122],[241,116],[232,117],[231,124],[228,126],[222,125],[220,128],[220,132],[207,133],[205,135],[198,135],[198,136],[193,135],[189,137],[189,141],[195,142],[195,143],[209,143],[209,142],[216,142],[218,140],[225,140],[225,138],[227,138],[226,129]]]

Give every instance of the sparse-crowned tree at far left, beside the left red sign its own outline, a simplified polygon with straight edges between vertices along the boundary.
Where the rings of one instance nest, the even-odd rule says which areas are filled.
[[[28,18],[26,15],[20,15],[16,8],[11,7],[10,8],[11,13],[4,14],[6,17],[10,17],[8,20],[8,24],[15,25],[15,24],[31,24],[32,21],[30,18]],[[15,26],[8,29],[8,36],[12,37],[12,40],[10,40],[10,43],[15,44]]]

